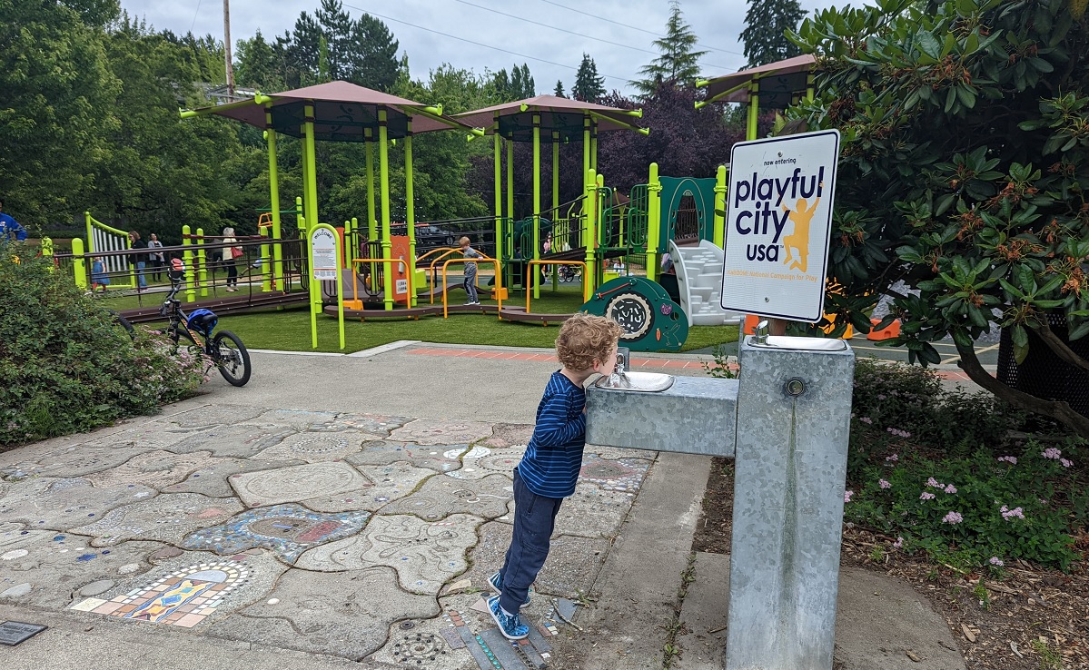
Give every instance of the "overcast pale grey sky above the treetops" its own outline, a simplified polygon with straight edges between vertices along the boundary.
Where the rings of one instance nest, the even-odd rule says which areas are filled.
[[[799,0],[811,12],[840,0]],[[156,29],[223,37],[223,0],[121,0],[133,16]],[[314,14],[320,0],[230,0],[231,39],[266,39],[295,25],[299,12]],[[346,0],[358,16],[381,18],[408,54],[413,78],[451,63],[482,74],[527,63],[538,94],[551,94],[556,79],[571,89],[589,53],[605,88],[632,94],[629,79],[658,55],[651,41],[665,32],[669,0]],[[684,20],[699,38],[703,76],[736,72],[745,64],[738,40],[745,27],[745,0],[682,0]],[[592,16],[590,15],[592,14]],[[533,23],[530,23],[533,22]]]

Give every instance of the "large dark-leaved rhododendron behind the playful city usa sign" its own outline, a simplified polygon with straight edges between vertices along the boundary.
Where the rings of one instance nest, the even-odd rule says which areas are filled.
[[[913,361],[939,362],[931,343],[951,336],[974,382],[1089,437],[1089,419],[1048,389],[1001,383],[975,348],[996,325],[1026,364],[1018,376],[1049,351],[1089,372],[1075,351],[1089,335],[1084,9],[879,0],[820,12],[794,36],[820,57],[820,97],[791,115],[843,135],[829,260],[845,293],[825,308],[840,330],[868,331],[867,310],[892,291],[885,321],[902,320],[893,344]]]

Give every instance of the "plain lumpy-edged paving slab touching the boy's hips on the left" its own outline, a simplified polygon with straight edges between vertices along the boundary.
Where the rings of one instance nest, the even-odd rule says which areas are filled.
[[[429,479],[419,491],[390,502],[383,514],[415,514],[424,521],[439,521],[450,514],[473,514],[493,519],[506,513],[514,496],[509,477],[489,474],[480,480],[457,480],[448,475]]]

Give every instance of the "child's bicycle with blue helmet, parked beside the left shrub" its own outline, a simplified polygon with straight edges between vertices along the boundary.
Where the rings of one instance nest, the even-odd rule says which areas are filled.
[[[212,330],[218,321],[215,312],[207,309],[198,309],[193,314],[186,314],[182,309],[182,301],[175,296],[182,288],[180,278],[170,277],[171,289],[167,294],[159,313],[170,319],[167,326],[167,335],[178,348],[178,343],[184,336],[192,345],[205,356],[211,359],[212,364],[219,368],[219,373],[232,386],[245,386],[249,381],[252,367],[249,364],[249,352],[242,339],[231,331],[220,331],[212,336]],[[200,343],[204,340],[204,344]]]

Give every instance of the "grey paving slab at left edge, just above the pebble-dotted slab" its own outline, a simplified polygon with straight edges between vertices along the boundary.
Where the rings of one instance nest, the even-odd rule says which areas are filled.
[[[115,507],[156,495],[157,491],[139,484],[99,488],[85,479],[29,479],[10,485],[0,497],[0,519],[20,521],[33,529],[66,531]]]

